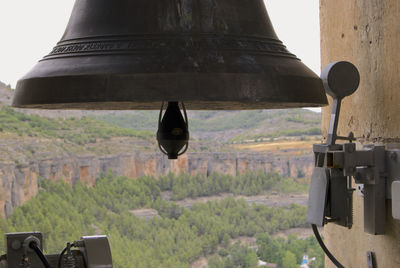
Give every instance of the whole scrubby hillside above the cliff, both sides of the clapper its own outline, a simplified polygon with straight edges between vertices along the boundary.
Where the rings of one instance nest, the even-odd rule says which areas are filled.
[[[318,136],[319,114],[307,110],[190,112],[191,151],[231,151],[232,142]],[[50,118],[0,107],[0,161],[63,154],[157,151],[157,112],[136,111]],[[19,142],[16,142],[19,141]],[[13,148],[10,150],[10,148]]]

